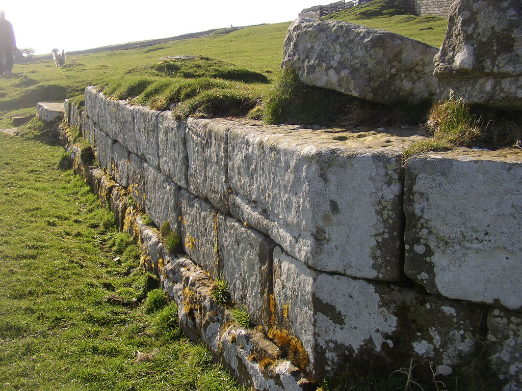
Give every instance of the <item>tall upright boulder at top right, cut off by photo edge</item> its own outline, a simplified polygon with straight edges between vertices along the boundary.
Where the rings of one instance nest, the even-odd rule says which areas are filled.
[[[457,0],[434,74],[441,99],[522,109],[522,3]]]

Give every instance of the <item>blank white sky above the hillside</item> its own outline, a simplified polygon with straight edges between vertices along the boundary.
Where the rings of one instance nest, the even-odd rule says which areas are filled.
[[[230,26],[294,20],[299,11],[331,0],[0,0],[18,48],[37,54],[167,38]],[[134,5],[133,5],[134,3]]]

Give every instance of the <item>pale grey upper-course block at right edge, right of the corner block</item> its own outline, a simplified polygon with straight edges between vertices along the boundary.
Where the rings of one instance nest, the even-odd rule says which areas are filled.
[[[521,157],[462,149],[408,160],[407,275],[434,294],[522,308]]]

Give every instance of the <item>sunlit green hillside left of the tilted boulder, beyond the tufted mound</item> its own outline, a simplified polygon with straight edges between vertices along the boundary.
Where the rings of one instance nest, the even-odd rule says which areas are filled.
[[[87,85],[110,84],[129,69],[157,64],[166,56],[203,55],[278,78],[282,45],[290,22],[248,27],[226,35],[211,35],[96,54],[71,55],[64,68],[50,59],[15,64],[15,75],[0,78],[0,127],[10,128],[13,115],[34,114],[39,101],[82,100]]]

